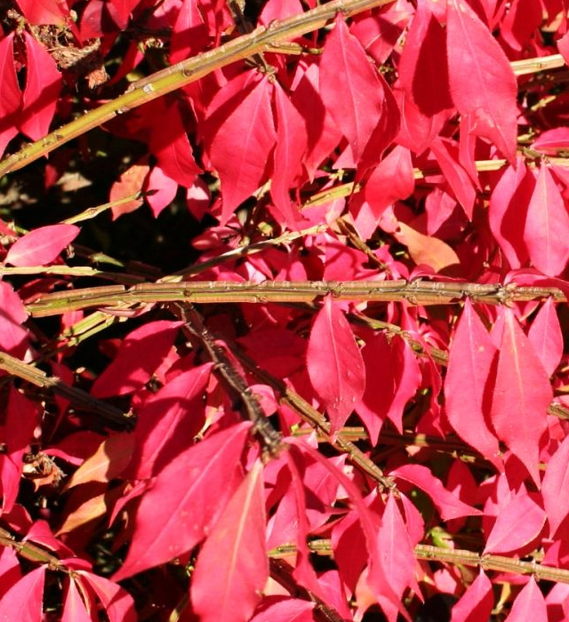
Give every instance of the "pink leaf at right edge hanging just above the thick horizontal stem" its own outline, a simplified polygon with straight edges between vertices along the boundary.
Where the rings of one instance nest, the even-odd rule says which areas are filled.
[[[557,276],[569,259],[569,215],[565,201],[546,163],[541,163],[527,208],[524,240],[533,266]]]

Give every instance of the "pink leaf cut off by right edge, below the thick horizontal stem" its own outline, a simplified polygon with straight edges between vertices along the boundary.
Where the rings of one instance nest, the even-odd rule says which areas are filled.
[[[565,516],[569,514],[569,495],[560,494],[569,485],[569,436],[551,456],[543,475],[541,495],[548,515],[549,533],[554,536]]]

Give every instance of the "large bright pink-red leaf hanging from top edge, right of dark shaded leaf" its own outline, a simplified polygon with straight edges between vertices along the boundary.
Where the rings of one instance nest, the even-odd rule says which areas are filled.
[[[517,84],[506,54],[464,0],[447,0],[446,31],[451,95],[475,133],[516,159]]]

